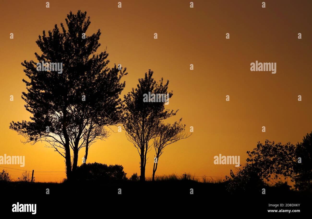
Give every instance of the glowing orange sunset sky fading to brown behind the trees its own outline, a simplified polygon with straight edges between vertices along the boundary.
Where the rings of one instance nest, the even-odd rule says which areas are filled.
[[[34,169],[37,181],[65,178],[65,173],[36,173],[65,171],[63,157],[44,143],[22,144],[22,136],[8,127],[10,121],[30,116],[21,99],[26,90],[22,79],[27,77],[20,63],[36,60],[34,53],[40,50],[35,41],[42,30],[60,27],[66,15],[77,10],[90,16],[87,35],[101,30],[98,53],[107,46],[109,66],[127,67],[123,94],[151,69],[156,80],[170,81],[173,97],[167,107],[179,109],[175,120],[182,117],[188,131],[194,127],[190,138],[165,148],[156,175],[229,175],[234,165],[214,165],[215,155],[241,156],[242,164],[258,141],[295,144],[312,131],[311,1],[195,0],[190,8],[190,1],[75,0],[49,1],[46,8],[47,1],[0,2],[0,155],[26,160],[25,167],[5,167]],[[119,1],[122,8],[117,7]],[[263,1],[266,8],[261,7]],[[276,62],[276,74],[250,71],[256,60]],[[82,149],[78,162],[83,156]],[[151,176],[154,149],[148,157],[146,176]],[[87,162],[121,164],[127,176],[140,172],[139,154],[124,132],[93,144]],[[21,174],[8,171],[13,179]]]

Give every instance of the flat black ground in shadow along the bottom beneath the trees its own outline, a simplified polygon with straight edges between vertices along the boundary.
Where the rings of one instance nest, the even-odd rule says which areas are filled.
[[[14,203],[36,203],[37,215],[60,215],[60,212],[72,212],[84,215],[88,212],[105,211],[105,214],[120,214],[126,209],[134,211],[140,205],[149,211],[155,205],[161,212],[233,213],[267,214],[268,209],[299,209],[308,212],[311,206],[311,193],[266,187],[266,194],[255,191],[254,194],[235,194],[226,192],[226,183],[200,183],[192,180],[164,181],[81,181],[73,183],[23,183],[11,182],[1,185],[2,215],[12,213]],[[46,194],[46,189],[50,194]],[[118,189],[121,194],[118,194]],[[190,194],[190,189],[194,194]],[[70,198],[68,202],[66,198]],[[299,207],[269,207],[269,204],[300,204]],[[154,206],[154,207],[153,207]],[[77,210],[78,209],[78,210]],[[150,212],[150,211],[149,211]],[[16,212],[14,212],[16,214]],[[290,214],[295,215],[296,212]],[[20,214],[25,214],[21,212]],[[28,213],[31,214],[31,213]],[[128,213],[126,213],[128,214]],[[274,213],[273,213],[274,214]],[[122,215],[122,214],[121,214]]]

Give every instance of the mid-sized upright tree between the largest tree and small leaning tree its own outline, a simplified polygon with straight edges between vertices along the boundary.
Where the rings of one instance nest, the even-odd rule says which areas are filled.
[[[153,78],[153,71],[145,73],[145,77],[139,79],[137,88],[124,95],[124,116],[123,125],[127,139],[138,149],[140,155],[141,181],[145,181],[145,166],[147,152],[151,145],[149,141],[157,135],[159,123],[178,112],[165,110],[165,102],[154,102],[156,97],[149,98],[150,102],[144,102],[146,94],[167,94],[169,81],[163,84],[163,78],[157,83]],[[168,98],[172,97],[172,91],[168,93]]]

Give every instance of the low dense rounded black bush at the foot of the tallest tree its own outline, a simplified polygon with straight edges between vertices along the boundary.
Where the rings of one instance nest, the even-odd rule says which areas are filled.
[[[126,173],[121,165],[102,163],[88,163],[77,167],[77,178],[80,180],[127,180]]]

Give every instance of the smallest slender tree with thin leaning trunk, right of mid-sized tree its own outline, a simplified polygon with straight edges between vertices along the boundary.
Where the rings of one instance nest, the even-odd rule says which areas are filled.
[[[182,118],[178,122],[174,122],[172,125],[161,123],[158,126],[157,135],[154,138],[153,143],[156,156],[154,157],[152,181],[155,181],[155,172],[158,167],[159,157],[163,154],[164,148],[169,144],[175,143],[180,139],[188,138],[192,135],[187,135],[185,133],[185,125],[182,125],[181,121]]]

